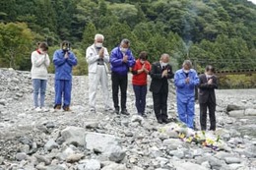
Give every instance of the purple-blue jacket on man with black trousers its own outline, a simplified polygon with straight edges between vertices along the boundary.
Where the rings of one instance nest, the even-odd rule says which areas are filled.
[[[135,59],[130,49],[127,50],[125,55],[128,56],[127,63],[123,62],[123,53],[121,52],[119,46],[112,49],[110,56],[110,65],[112,72],[118,75],[127,75],[127,73],[129,72],[129,68],[135,65]]]

